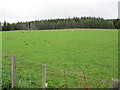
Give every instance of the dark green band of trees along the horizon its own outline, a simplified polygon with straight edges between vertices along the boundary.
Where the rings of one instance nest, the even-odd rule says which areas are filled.
[[[96,17],[73,17],[66,19],[47,19],[29,22],[8,23],[4,21],[3,31],[11,30],[46,30],[68,28],[96,28],[96,29],[120,29],[120,19],[103,19]]]

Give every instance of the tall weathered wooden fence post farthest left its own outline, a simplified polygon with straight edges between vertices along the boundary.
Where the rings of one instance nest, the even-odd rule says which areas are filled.
[[[11,60],[11,86],[12,88],[15,87],[16,85],[16,57],[15,56],[12,56],[12,60]]]

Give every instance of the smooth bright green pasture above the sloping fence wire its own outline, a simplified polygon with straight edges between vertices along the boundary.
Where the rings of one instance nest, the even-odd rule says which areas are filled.
[[[118,73],[117,45],[117,30],[3,32],[4,53],[104,80]]]

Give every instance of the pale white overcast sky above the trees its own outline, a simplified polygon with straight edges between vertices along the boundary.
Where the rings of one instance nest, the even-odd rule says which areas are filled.
[[[118,18],[119,0],[0,0],[0,21],[81,16]]]

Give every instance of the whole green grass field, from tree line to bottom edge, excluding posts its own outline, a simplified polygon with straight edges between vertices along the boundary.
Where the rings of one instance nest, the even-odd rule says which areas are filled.
[[[48,88],[111,87],[67,71],[106,81],[118,75],[118,30],[8,31],[2,32],[2,45],[3,53],[17,57],[19,88],[41,87],[40,63],[48,65]],[[11,85],[10,55],[3,55],[3,88]]]

